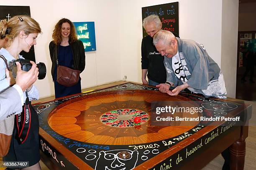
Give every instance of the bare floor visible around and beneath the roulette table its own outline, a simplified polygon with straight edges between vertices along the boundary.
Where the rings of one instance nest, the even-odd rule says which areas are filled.
[[[123,82],[123,81],[119,81]],[[105,84],[105,85],[99,85],[97,87],[90,87],[87,89],[82,90],[82,92],[89,91],[89,90],[95,90],[96,88],[104,88],[108,87],[110,85],[116,85],[117,82]],[[47,97],[43,99],[39,99],[36,102],[47,102],[50,100],[54,100],[55,97]],[[250,104],[253,106],[253,114],[252,118],[249,121],[249,134],[248,138],[246,138],[246,160],[245,160],[245,166],[244,170],[256,170],[256,102],[253,101],[245,101],[247,104]],[[35,103],[35,102],[34,102]],[[224,160],[221,155],[218,155],[214,160],[212,160],[205,168],[202,170],[221,170],[222,165],[224,163]],[[4,169],[1,165],[3,165],[2,159],[0,158],[0,170]],[[49,170],[44,163],[40,161],[40,165],[42,170]]]

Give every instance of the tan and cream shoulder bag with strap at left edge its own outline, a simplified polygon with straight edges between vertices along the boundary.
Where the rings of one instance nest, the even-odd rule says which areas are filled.
[[[9,70],[7,60],[3,55],[0,55],[5,61],[5,65]],[[9,152],[10,142],[13,135],[14,116],[8,117],[5,120],[0,120],[0,157],[4,157]]]

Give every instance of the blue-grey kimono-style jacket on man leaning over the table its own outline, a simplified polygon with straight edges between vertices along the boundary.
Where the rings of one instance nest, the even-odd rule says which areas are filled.
[[[177,37],[179,58],[187,77],[187,84],[195,92],[206,97],[226,98],[224,77],[218,64],[207,54],[205,47],[193,40],[184,40]],[[172,69],[172,58],[164,57],[166,67],[166,81],[174,86],[182,85],[182,81]]]

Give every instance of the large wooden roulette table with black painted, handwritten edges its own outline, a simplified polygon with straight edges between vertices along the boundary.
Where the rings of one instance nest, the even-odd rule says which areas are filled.
[[[170,113],[167,106],[201,110]],[[173,97],[127,82],[33,108],[41,160],[49,169],[198,170],[228,147],[231,168],[243,169],[251,118],[243,102],[183,92]]]

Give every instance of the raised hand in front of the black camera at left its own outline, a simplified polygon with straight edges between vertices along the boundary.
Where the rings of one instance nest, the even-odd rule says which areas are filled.
[[[23,92],[31,87],[31,85],[37,80],[38,78],[38,68],[36,67],[36,63],[30,61],[32,64],[31,69],[26,72],[21,70],[21,66],[19,62],[16,62],[17,65],[17,75],[16,75],[16,85],[19,85]]]

